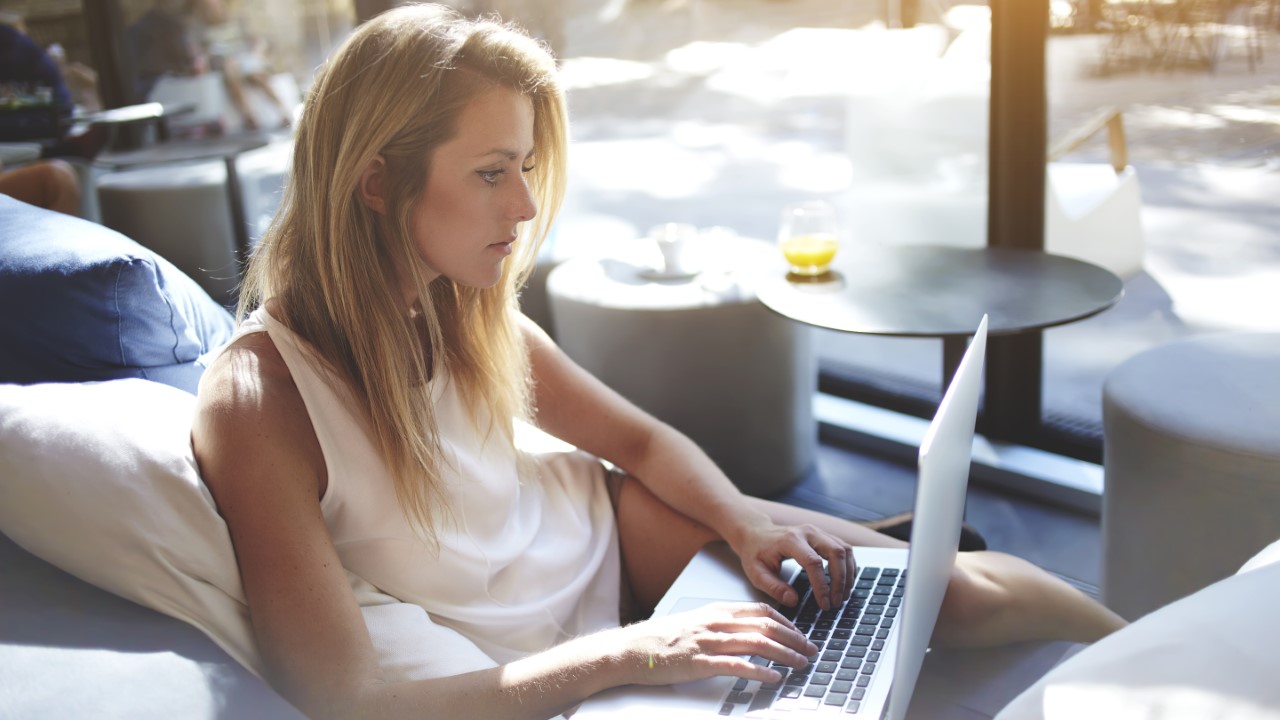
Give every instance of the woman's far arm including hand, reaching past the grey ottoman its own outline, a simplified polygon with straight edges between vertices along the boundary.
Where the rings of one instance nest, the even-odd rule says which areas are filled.
[[[584,370],[532,320],[521,316],[521,323],[543,429],[625,468],[663,502],[712,528],[737,552],[755,587],[778,602],[794,605],[799,600],[778,577],[786,557],[813,578],[823,607],[847,597],[854,577],[847,543],[812,525],[774,525],[745,502],[737,487],[691,439]],[[696,402],[692,388],[690,402]],[[829,588],[823,588],[824,559],[831,570]]]

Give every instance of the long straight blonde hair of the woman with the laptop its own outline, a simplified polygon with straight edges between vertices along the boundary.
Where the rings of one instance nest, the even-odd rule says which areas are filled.
[[[410,218],[431,152],[454,135],[467,102],[493,87],[532,102],[536,165],[526,177],[540,211],[521,224],[494,287],[426,283]],[[504,442],[513,419],[531,416],[517,295],[564,195],[566,126],[554,60],[522,31],[439,5],[383,13],[320,69],[280,210],[246,272],[238,316],[268,299],[283,306],[283,320],[364,404],[401,506],[431,542],[436,519],[448,516],[447,460],[424,378],[447,372],[465,405],[488,409],[481,430],[492,437],[497,425]],[[361,173],[379,155],[384,214],[360,199]],[[412,319],[401,270],[419,291]]]

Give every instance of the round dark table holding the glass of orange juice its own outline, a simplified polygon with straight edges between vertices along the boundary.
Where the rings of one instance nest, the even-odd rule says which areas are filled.
[[[819,328],[942,338],[946,388],[983,314],[991,336],[1039,332],[1115,305],[1124,283],[1036,250],[865,245],[841,247],[818,278],[788,275],[780,259],[756,293],[771,310]]]

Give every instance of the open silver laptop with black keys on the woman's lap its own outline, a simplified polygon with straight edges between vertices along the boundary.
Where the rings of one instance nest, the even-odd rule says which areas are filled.
[[[902,720],[959,546],[986,350],[984,315],[920,443],[910,551],[855,547],[854,592],[842,609],[831,611],[818,610],[806,596],[808,579],[800,566],[791,560],[783,562],[783,577],[805,600],[795,609],[780,610],[819,647],[809,667],[778,667],[786,675],[771,684],[712,678],[678,685],[613,688],[584,702],[573,720]],[[719,601],[768,598],[751,587],[727,544],[712,543],[690,560],[654,616]]]

